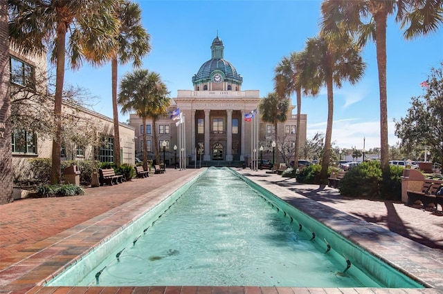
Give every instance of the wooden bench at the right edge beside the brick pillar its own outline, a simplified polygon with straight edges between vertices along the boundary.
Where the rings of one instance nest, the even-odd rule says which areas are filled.
[[[443,185],[443,181],[439,179],[424,179],[423,188],[421,191],[408,190],[408,206],[413,206],[419,202],[422,203],[423,208],[438,208],[440,204],[443,210],[443,195],[436,195],[437,191]]]

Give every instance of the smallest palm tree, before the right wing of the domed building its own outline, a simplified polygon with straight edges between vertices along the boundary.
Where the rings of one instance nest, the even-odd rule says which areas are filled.
[[[280,99],[276,92],[269,93],[264,97],[258,105],[260,109],[260,115],[262,115],[262,121],[273,124],[274,126],[274,139],[278,143],[278,122],[287,121],[287,113],[289,110],[289,99]],[[277,163],[278,163],[277,157]]]

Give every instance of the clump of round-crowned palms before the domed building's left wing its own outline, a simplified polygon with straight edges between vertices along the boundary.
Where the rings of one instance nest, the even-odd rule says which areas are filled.
[[[168,107],[171,104],[171,99],[168,98],[169,93],[160,75],[149,70],[138,69],[128,72],[120,81],[117,103],[121,106],[122,112],[125,114],[135,111],[136,115],[142,119],[143,168],[145,170],[147,170],[146,119],[152,119],[155,159],[156,162],[160,162],[155,124],[161,115],[168,114]]]

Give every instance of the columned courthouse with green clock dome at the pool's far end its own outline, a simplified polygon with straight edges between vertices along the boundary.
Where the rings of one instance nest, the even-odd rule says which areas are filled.
[[[176,126],[178,121],[170,116],[156,121],[156,126],[147,126],[148,158],[154,159],[156,144],[167,165],[181,157],[192,167],[242,166],[249,165],[252,159],[272,161],[273,151],[275,162],[293,159],[296,115],[292,115],[292,110],[295,107],[290,107],[288,120],[278,125],[275,136],[272,124],[260,121],[257,113],[260,90],[242,90],[243,77],[224,59],[224,44],[218,35],[210,50],[211,58],[192,76],[192,90],[178,90],[177,97],[172,98],[170,112],[181,112],[183,124]],[[251,112],[254,115],[249,119]],[[141,157],[141,119],[133,114],[129,121],[136,128],[136,155]],[[152,141],[154,127],[158,134],[155,143]],[[306,115],[301,116],[300,135],[301,147],[306,141]],[[273,141],[278,142],[275,148]]]

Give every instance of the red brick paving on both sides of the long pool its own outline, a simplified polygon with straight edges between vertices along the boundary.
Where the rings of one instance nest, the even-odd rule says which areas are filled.
[[[86,188],[85,195],[75,197],[21,199],[11,204],[0,206],[0,291],[17,293],[86,293],[96,291],[111,291],[126,293],[127,287],[98,288],[98,287],[40,287],[42,281],[51,279],[67,264],[75,262],[75,258],[100,244],[101,240],[125,226],[143,211],[154,206],[173,190],[197,176],[202,169],[175,170],[167,169],[163,175],[151,175],[145,179],[133,179],[116,186]],[[318,185],[295,183],[294,179],[283,178],[279,175],[257,172],[250,169],[235,169],[237,172],[252,179],[257,184],[282,197],[287,202],[296,205],[306,197],[309,207],[318,205],[326,208],[315,209],[315,215],[327,222],[331,209],[338,210],[341,215],[350,215],[359,220],[370,222],[374,226],[386,228],[404,236],[389,235],[389,242],[400,240],[408,248],[401,248],[401,254],[413,250],[428,256],[424,262],[426,268],[417,268],[417,275],[429,276],[432,284],[443,288],[443,213],[411,208],[401,203],[371,201],[365,199],[346,199],[333,188],[320,188]],[[293,203],[292,203],[293,202]],[[301,202],[300,202],[301,203]],[[328,210],[329,209],[329,210]],[[345,213],[345,214],[343,214]],[[338,214],[337,214],[338,215]],[[351,219],[351,217],[347,217]],[[354,221],[352,221],[354,222]],[[347,221],[347,226],[350,223]],[[356,225],[358,226],[358,225]],[[358,228],[355,228],[357,230]],[[412,240],[414,242],[410,242]],[[362,241],[364,242],[364,241]],[[378,242],[383,242],[379,239]],[[426,245],[422,246],[417,243]],[[372,243],[374,245],[374,243]],[[409,248],[410,247],[410,248]],[[384,248],[383,254],[392,255],[392,259],[401,257],[398,248]],[[394,253],[394,254],[392,254]],[[411,253],[412,254],[412,253]],[[415,256],[415,255],[410,255]],[[420,255],[420,259],[421,259]],[[410,260],[408,260],[410,262]],[[414,260],[413,262],[417,262]],[[437,273],[437,277],[434,277]],[[438,274],[440,273],[440,274]],[[143,288],[143,289],[142,289]],[[210,287],[179,287],[179,292],[215,293]],[[310,289],[312,291],[312,289]],[[177,293],[177,287],[132,287],[129,293],[142,291]],[[217,293],[233,293],[232,287],[218,287]],[[308,292],[307,288],[266,288],[266,287],[236,287],[236,293],[299,293]],[[388,293],[389,289],[378,289],[378,292]],[[436,289],[426,289],[426,293],[438,293]],[[434,292],[435,291],[435,292]],[[369,291],[372,293],[372,291]],[[409,292],[409,291],[406,291]],[[423,291],[422,291],[423,292]],[[337,289],[320,291],[320,293],[338,293]],[[368,289],[354,289],[354,293],[368,293]],[[415,291],[410,291],[415,293]]]

